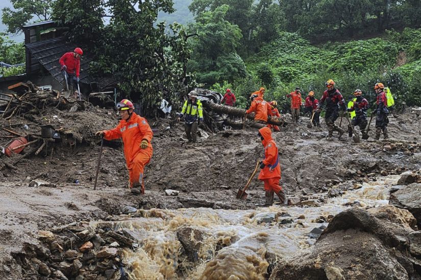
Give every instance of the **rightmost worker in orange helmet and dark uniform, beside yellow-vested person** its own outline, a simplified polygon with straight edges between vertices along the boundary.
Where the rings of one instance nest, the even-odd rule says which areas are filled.
[[[387,97],[386,93],[384,92],[384,85],[381,82],[376,83],[374,86],[374,90],[377,93],[377,108],[373,112],[376,115],[376,140],[380,139],[380,134],[383,131],[383,137],[385,139],[389,138],[387,134],[387,124],[389,123],[389,119],[387,115],[389,115],[389,111],[387,109]]]

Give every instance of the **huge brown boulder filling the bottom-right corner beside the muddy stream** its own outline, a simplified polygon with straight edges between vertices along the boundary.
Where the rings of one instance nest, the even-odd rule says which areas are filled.
[[[416,242],[414,254],[407,253],[409,237],[416,239],[407,213],[399,217],[399,209],[390,206],[370,211],[337,214],[314,246],[282,259],[269,279],[420,279]]]

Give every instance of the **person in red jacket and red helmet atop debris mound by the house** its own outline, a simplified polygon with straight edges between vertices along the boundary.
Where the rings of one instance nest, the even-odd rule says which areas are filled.
[[[81,70],[81,56],[83,55],[83,50],[81,48],[75,48],[75,50],[66,52],[62,55],[59,60],[61,65],[61,71],[65,71],[67,74],[67,83],[69,90],[73,91],[73,97],[78,98],[78,88],[79,75]],[[64,89],[63,89],[64,90]]]

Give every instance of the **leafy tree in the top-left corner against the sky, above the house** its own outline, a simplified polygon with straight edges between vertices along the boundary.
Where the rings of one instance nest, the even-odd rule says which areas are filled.
[[[2,21],[7,25],[7,32],[17,34],[34,17],[35,21],[48,20],[55,0],[10,0],[15,10],[3,8]]]

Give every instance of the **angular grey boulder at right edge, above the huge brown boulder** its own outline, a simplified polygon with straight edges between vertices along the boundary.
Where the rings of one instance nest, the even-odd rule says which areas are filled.
[[[421,229],[421,184],[413,183],[391,193],[389,204],[411,212]]]

